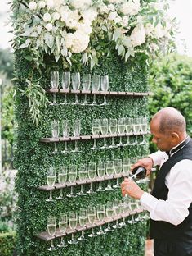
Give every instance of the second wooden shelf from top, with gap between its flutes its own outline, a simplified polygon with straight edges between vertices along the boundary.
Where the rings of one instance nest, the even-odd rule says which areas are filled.
[[[87,140],[87,139],[104,139],[104,138],[114,138],[114,137],[127,137],[127,136],[137,136],[137,135],[147,135],[149,132],[138,132],[138,133],[124,133],[122,135],[82,135],[82,136],[70,136],[70,137],[59,137],[59,138],[42,138],[40,142],[52,143],[52,142],[62,142],[62,141],[75,141],[75,140]]]

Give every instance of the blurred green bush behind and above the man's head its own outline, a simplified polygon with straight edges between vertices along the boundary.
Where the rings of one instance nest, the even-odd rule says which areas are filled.
[[[149,109],[152,117],[162,107],[176,107],[186,119],[187,131],[192,135],[192,58],[176,53],[153,62],[149,76]],[[150,145],[154,151],[154,145]]]

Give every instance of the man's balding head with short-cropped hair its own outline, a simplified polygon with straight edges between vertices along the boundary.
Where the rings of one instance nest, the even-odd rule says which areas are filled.
[[[152,141],[161,151],[168,151],[186,138],[186,123],[181,112],[173,107],[159,110],[150,121]]]

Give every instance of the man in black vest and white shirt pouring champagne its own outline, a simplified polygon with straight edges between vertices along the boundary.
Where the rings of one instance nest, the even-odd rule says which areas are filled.
[[[140,199],[150,212],[150,235],[154,256],[192,256],[192,139],[185,131],[185,118],[173,107],[165,107],[150,121],[152,141],[159,151],[132,166],[150,173],[159,165],[152,194],[125,179],[122,194]]]

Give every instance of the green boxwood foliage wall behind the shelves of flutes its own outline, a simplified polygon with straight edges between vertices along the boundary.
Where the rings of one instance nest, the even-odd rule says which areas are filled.
[[[50,88],[50,71],[62,71],[60,64],[52,66],[51,60],[47,59],[46,66],[42,69],[42,79],[40,84],[43,88]],[[20,256],[46,256],[50,255],[47,247],[50,242],[39,240],[35,237],[38,232],[47,230],[47,216],[54,215],[58,223],[60,213],[69,213],[77,211],[79,208],[87,208],[88,205],[96,206],[97,203],[105,204],[106,201],[121,199],[120,189],[114,191],[97,192],[96,194],[87,194],[76,198],[67,198],[65,201],[56,200],[55,203],[46,202],[49,192],[38,190],[38,186],[47,185],[46,173],[50,166],[59,167],[60,165],[69,165],[75,163],[77,166],[81,163],[106,161],[114,158],[132,158],[143,156],[148,153],[148,144],[117,149],[100,149],[90,150],[93,140],[78,142],[81,153],[68,153],[50,155],[54,149],[53,144],[43,144],[41,138],[51,137],[51,120],[69,119],[71,123],[81,119],[81,135],[92,134],[92,120],[94,118],[118,118],[118,117],[148,117],[147,98],[133,97],[108,97],[109,106],[47,106],[42,108],[42,121],[37,127],[29,119],[29,101],[25,96],[21,96],[20,89],[25,89],[23,82],[30,72],[30,62],[25,60],[25,56],[16,53],[16,72],[20,80],[16,84],[16,150],[15,150],[15,167],[18,169],[16,180],[16,191],[19,194],[18,211],[17,211],[17,254]],[[109,75],[109,90],[111,91],[140,91],[146,92],[146,68],[145,58],[142,56],[130,60],[124,64],[122,60],[114,57],[100,60],[99,66],[95,66],[92,71],[87,68],[81,70],[83,73],[90,72],[98,75]],[[61,88],[61,87],[60,87]],[[52,95],[48,95],[52,100]],[[84,96],[78,96],[83,101]],[[87,96],[87,101],[92,102],[92,95]],[[102,102],[103,97],[97,96],[97,101]],[[64,100],[64,95],[57,95],[58,103]],[[68,102],[74,102],[74,95],[67,96]],[[60,136],[61,134],[60,127]],[[138,139],[142,139],[139,136]],[[147,140],[147,137],[145,137]],[[123,142],[127,137],[123,138]],[[115,139],[118,144],[118,138]],[[107,139],[107,144],[111,139]],[[103,145],[103,139],[97,140],[98,145]],[[74,149],[74,142],[68,144],[69,149]],[[58,149],[64,149],[64,143],[58,144]],[[112,181],[113,184],[116,180]],[[105,186],[105,182],[102,183]],[[93,184],[95,189],[98,183]],[[85,186],[85,190],[89,185]],[[80,186],[75,187],[74,192],[78,192]],[[53,192],[53,198],[59,196],[60,190]],[[64,190],[64,194],[69,194],[69,189]],[[88,238],[85,242],[78,242],[77,245],[69,245],[66,249],[58,249],[51,255],[74,255],[74,256],[143,256],[145,249],[145,231],[146,223],[137,222],[128,224],[122,229],[114,232],[108,232],[106,235],[100,235],[96,238]],[[86,232],[89,233],[90,231]],[[69,240],[67,236],[65,240]],[[75,237],[77,237],[76,235]],[[54,240],[58,244],[60,240]]]

